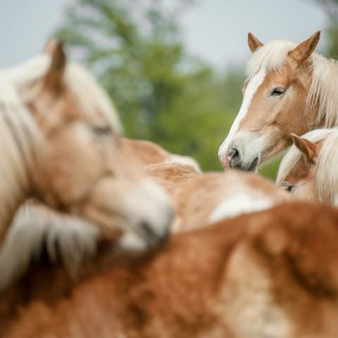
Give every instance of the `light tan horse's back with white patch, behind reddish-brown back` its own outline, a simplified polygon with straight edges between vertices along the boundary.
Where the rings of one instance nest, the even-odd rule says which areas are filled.
[[[226,170],[198,173],[189,165],[151,165],[151,176],[173,199],[175,222],[172,232],[208,226],[242,213],[271,208],[289,199],[273,182],[253,173]]]

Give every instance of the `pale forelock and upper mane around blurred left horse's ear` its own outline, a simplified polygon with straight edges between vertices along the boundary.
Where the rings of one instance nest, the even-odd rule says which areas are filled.
[[[50,62],[51,57],[43,54],[17,67],[2,70],[0,75],[20,89],[20,87],[43,77]],[[120,120],[111,100],[87,70],[76,63],[68,62],[64,83],[67,86],[68,94],[73,96],[79,106],[79,111],[86,120],[89,120],[89,123],[95,123],[99,118],[104,117],[117,134],[122,133]]]

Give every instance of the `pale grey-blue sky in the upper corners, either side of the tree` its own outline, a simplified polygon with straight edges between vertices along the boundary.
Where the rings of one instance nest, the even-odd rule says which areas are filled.
[[[0,0],[0,68],[39,54],[71,2]],[[301,42],[324,30],[325,23],[325,13],[311,0],[197,0],[183,15],[181,26],[189,51],[223,68],[246,62],[248,32],[261,42],[280,38]],[[320,42],[324,45],[325,34]]]

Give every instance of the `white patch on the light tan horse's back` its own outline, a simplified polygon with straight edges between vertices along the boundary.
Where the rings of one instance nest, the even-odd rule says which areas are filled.
[[[251,213],[271,208],[273,201],[266,196],[251,196],[245,192],[239,192],[235,195],[227,196],[216,206],[209,217],[209,222],[214,223],[225,218],[241,215],[242,213]]]

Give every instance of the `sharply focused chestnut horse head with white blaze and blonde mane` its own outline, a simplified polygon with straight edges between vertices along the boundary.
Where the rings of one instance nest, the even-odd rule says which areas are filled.
[[[218,153],[225,167],[255,170],[292,144],[291,133],[338,124],[338,64],[313,52],[319,37],[263,45],[249,33],[242,106]]]

